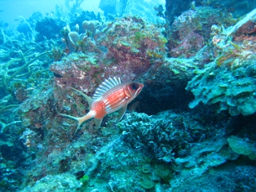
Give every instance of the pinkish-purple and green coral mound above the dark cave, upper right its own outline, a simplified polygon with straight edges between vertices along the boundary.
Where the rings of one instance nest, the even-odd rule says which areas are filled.
[[[232,15],[211,7],[195,7],[178,16],[167,35],[171,57],[191,58],[210,39],[211,26],[235,24]]]

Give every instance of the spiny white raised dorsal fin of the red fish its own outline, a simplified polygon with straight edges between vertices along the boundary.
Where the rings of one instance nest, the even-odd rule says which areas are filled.
[[[93,100],[100,99],[104,93],[110,90],[110,88],[116,87],[116,85],[119,85],[119,84],[121,84],[120,77],[118,78],[113,77],[113,79],[109,77],[108,80],[103,81],[102,84],[99,85],[92,99]]]

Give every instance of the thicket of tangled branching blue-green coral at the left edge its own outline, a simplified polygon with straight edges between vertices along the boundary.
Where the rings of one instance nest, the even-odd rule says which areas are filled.
[[[28,98],[31,90],[39,83],[42,84],[45,81],[42,80],[43,78],[49,77],[42,62],[43,59],[47,61],[47,58],[44,57],[45,52],[38,54],[32,48],[25,53],[22,50],[12,50],[10,54],[17,56],[17,58],[11,58],[1,64],[1,115],[6,115],[11,111],[15,112],[15,108],[18,107],[20,102]],[[20,120],[1,117],[1,133],[4,133],[7,128],[17,123],[20,123]]]

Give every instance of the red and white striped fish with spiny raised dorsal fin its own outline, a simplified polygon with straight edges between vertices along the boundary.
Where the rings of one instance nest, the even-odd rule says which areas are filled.
[[[140,94],[143,87],[144,85],[139,82],[121,83],[120,78],[113,77],[112,79],[110,77],[99,85],[92,99],[81,91],[72,88],[86,98],[90,111],[81,118],[65,114],[59,115],[78,120],[78,128],[84,121],[94,118],[96,128],[99,128],[102,119],[111,112],[118,111],[118,121],[121,120],[127,110],[127,104]]]

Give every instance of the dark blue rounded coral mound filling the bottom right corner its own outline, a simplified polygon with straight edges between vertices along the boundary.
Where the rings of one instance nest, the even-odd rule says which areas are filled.
[[[171,183],[169,191],[255,191],[255,166],[230,164],[219,166],[198,177]]]

